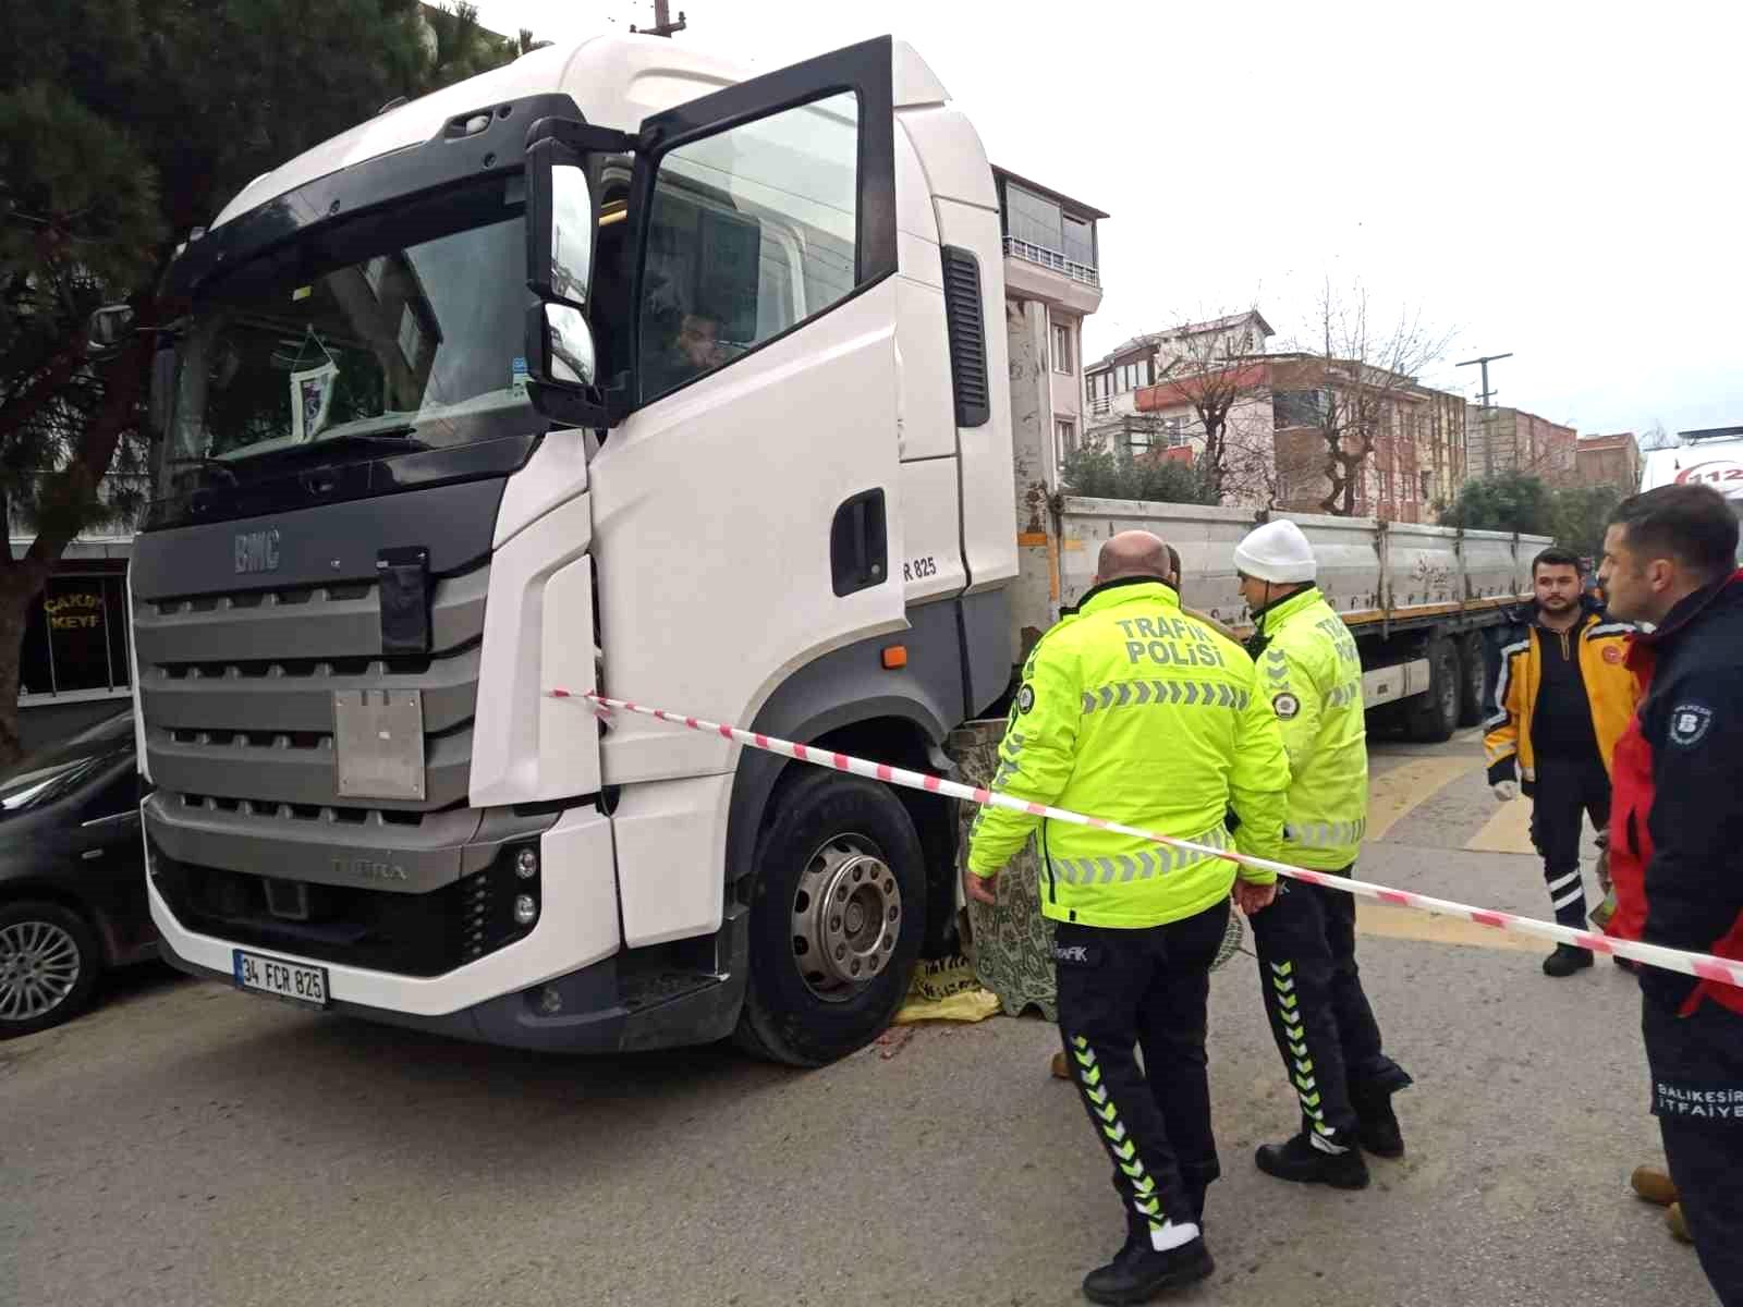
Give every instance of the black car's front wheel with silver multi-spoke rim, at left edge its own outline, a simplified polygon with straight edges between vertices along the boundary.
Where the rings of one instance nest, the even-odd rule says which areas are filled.
[[[78,1016],[101,971],[98,939],[78,913],[59,903],[0,904],[0,1039]]]

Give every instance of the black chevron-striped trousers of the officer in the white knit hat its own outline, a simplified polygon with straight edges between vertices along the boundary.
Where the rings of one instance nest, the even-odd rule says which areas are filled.
[[[1346,866],[1333,875],[1349,873]],[[1265,1016],[1300,1103],[1302,1133],[1349,1147],[1356,1103],[1410,1082],[1386,1056],[1380,1025],[1361,988],[1356,899],[1285,880],[1251,927]]]

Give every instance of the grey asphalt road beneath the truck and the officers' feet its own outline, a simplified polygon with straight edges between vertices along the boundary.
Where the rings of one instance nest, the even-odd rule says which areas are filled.
[[[1475,735],[1375,744],[1367,878],[1548,910]],[[1215,1277],[1177,1302],[1706,1307],[1635,1201],[1661,1157],[1638,997],[1536,943],[1365,915],[1417,1079],[1361,1194],[1258,1175],[1293,1128],[1251,958],[1211,995]],[[303,1014],[157,967],[0,1044],[0,1304],[1081,1302],[1122,1227],[1051,1026],[926,1026],[821,1072],[720,1049],[598,1061]]]

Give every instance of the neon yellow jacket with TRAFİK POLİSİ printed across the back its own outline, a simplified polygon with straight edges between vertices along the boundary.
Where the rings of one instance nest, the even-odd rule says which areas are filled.
[[[1114,580],[1041,638],[999,746],[994,789],[1215,849],[1278,857],[1288,763],[1251,659],[1180,612],[1159,580]],[[1229,897],[1236,864],[1129,835],[983,807],[967,868],[995,875],[1035,835],[1041,910],[1147,927]],[[1271,871],[1241,870],[1255,884]]]

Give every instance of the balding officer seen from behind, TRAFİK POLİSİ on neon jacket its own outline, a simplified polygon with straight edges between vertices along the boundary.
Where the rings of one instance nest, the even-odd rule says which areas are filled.
[[[1166,545],[1147,532],[1102,547],[1095,589],[1023,667],[994,788],[1213,849],[1234,845],[1232,807],[1239,847],[1274,857],[1288,788],[1278,718],[1251,659],[1185,617],[1166,575]],[[1126,1244],[1084,1293],[1140,1302],[1213,1270],[1201,1234],[1204,1188],[1218,1175],[1204,1004],[1236,866],[987,807],[964,891],[995,901],[1000,868],[1032,833],[1041,910],[1058,924],[1065,1054],[1126,1208]],[[1239,877],[1258,899],[1276,892],[1271,873]]]

